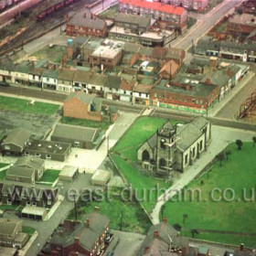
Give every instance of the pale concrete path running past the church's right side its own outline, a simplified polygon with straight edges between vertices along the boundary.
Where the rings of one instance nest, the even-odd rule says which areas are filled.
[[[241,141],[250,141],[256,132],[248,132],[243,130],[224,128],[220,126],[212,126],[212,141],[208,146],[208,151],[201,155],[194,165],[191,165],[184,174],[181,174],[179,179],[174,182],[172,187],[169,187],[165,193],[158,197],[157,203],[153,212],[151,213],[151,219],[153,224],[159,223],[159,213],[165,202],[176,195],[183,187],[192,181],[200,171],[210,163],[220,151],[231,143],[240,139]],[[167,216],[169,218],[169,216]]]

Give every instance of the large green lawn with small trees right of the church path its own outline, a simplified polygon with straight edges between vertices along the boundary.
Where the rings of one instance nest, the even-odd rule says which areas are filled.
[[[256,233],[256,208],[255,199],[247,202],[243,197],[243,189],[246,189],[247,197],[251,195],[251,189],[255,189],[256,180],[256,147],[252,143],[244,143],[242,150],[237,150],[236,144],[229,144],[231,151],[229,160],[224,160],[222,166],[217,162],[211,168],[209,174],[204,174],[198,180],[192,181],[187,188],[201,190],[201,201],[196,199],[190,201],[180,200],[179,202],[167,202],[165,204],[165,216],[170,224],[178,223],[186,229],[217,229],[235,232]],[[224,199],[216,202],[210,197],[214,188],[224,191],[230,187],[235,193],[234,200]],[[213,193],[214,197],[219,197],[219,192]],[[227,193],[228,199],[231,197]],[[176,197],[177,198],[177,197]],[[176,199],[175,198],[175,199]],[[186,223],[183,224],[183,215],[187,214]],[[237,244],[237,239],[233,241],[226,236],[227,240]],[[218,240],[218,236],[208,233],[201,233],[200,238],[207,240]],[[225,237],[224,237],[225,238]],[[255,245],[251,238],[240,238],[247,246]]]

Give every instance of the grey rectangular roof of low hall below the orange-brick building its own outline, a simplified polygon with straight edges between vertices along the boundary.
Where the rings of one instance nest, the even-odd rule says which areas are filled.
[[[59,123],[56,125],[52,137],[67,138],[70,140],[93,142],[98,129]]]

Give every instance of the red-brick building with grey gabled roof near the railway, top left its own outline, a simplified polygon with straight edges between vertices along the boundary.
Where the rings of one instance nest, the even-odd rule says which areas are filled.
[[[72,18],[67,18],[66,34],[71,37],[106,37],[107,24],[101,18],[94,16],[89,9]]]

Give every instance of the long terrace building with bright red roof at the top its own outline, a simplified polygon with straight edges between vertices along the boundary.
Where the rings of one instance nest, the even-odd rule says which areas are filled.
[[[184,27],[187,22],[187,11],[180,6],[144,0],[120,0],[119,10],[121,13],[150,16],[176,27]]]

